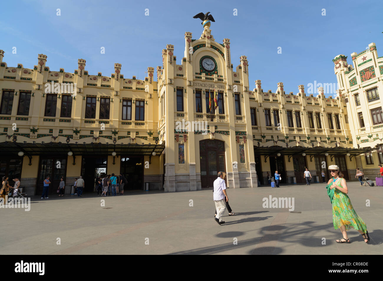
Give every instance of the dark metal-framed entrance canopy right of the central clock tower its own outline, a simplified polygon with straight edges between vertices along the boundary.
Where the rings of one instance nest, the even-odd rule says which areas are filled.
[[[288,155],[288,161],[290,162],[290,158],[293,156],[303,156],[302,153],[306,153],[306,155],[310,156],[310,161],[313,161],[313,157],[319,154],[329,153],[329,156],[334,158],[336,155],[347,155],[350,157],[350,161],[352,157],[355,155],[367,153],[373,150],[377,150],[379,148],[344,148],[344,147],[282,147],[282,146],[270,146],[270,147],[258,147],[254,146],[254,154],[255,155],[264,155],[265,162],[269,156],[277,156],[277,153],[281,155]]]

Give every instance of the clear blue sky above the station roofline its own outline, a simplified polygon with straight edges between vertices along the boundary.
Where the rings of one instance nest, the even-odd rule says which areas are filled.
[[[2,3],[0,49],[8,66],[33,68],[43,53],[51,70],[73,73],[77,59],[83,58],[89,74],[110,76],[114,63],[121,63],[124,78],[143,79],[148,66],[162,66],[166,44],[173,44],[174,55],[182,59],[185,31],[193,39],[203,31],[200,19],[192,17],[210,11],[216,21],[210,27],[214,39],[230,39],[234,67],[241,55],[247,56],[250,89],[260,79],[265,91],[274,92],[277,82],[283,82],[286,93],[297,93],[298,85],[307,89],[314,80],[336,83],[332,59],[339,54],[352,63],[352,52],[375,42],[383,56],[382,8],[381,1],[334,0],[7,1]]]

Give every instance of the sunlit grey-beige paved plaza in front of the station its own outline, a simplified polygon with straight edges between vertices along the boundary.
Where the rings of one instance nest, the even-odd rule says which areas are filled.
[[[214,221],[211,189],[134,191],[116,197],[34,196],[31,209],[0,209],[1,254],[382,254],[383,187],[349,182],[349,197],[367,224],[337,244],[325,184],[228,189],[236,213]],[[263,208],[264,197],[294,197],[294,211]],[[101,200],[105,199],[105,206]],[[190,201],[193,200],[193,201]],[[366,207],[370,200],[370,207]],[[190,206],[193,205],[193,206]],[[108,208],[108,209],[105,209]],[[57,245],[57,239],[61,242]],[[324,245],[322,241],[326,244]],[[237,242],[237,243],[235,243]]]

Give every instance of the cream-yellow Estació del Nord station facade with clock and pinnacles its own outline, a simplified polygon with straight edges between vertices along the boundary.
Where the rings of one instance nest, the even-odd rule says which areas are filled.
[[[234,188],[267,184],[267,172],[275,170],[282,183],[304,182],[306,167],[313,176],[320,178],[324,170],[329,178],[326,167],[332,164],[350,180],[356,165],[375,174],[380,161],[375,150],[381,144],[376,137],[383,138],[383,131],[373,121],[367,124],[373,137],[362,133],[366,123],[354,129],[346,76],[357,78],[352,89],[361,95],[370,86],[365,84],[380,85],[383,58],[376,47],[363,52],[375,56],[367,60],[376,76],[368,74],[368,81],[360,80],[366,71],[352,78],[355,69],[345,56],[334,60],[342,85],[336,98],[326,98],[322,87],[318,95],[307,95],[303,85],[296,94],[286,93],[282,82],[273,92],[262,89],[260,80],[250,89],[247,57],[234,67],[230,40],[216,42],[209,27],[198,39],[185,32],[184,57],[178,61],[174,46],[167,45],[163,65],[148,67],[142,80],[124,78],[119,63],[110,76],[89,74],[83,59],[74,73],[51,71],[43,54],[33,69],[8,67],[0,50],[1,175],[18,175],[28,194],[39,194],[46,176],[51,176],[52,192],[62,176],[70,187],[80,175],[85,191],[87,182],[93,190],[100,173],[124,174],[127,189],[149,182],[149,189],[172,192],[212,187],[219,171],[228,174],[227,185]],[[75,91],[63,91],[62,85]],[[359,100],[364,120],[380,107],[379,100]]]

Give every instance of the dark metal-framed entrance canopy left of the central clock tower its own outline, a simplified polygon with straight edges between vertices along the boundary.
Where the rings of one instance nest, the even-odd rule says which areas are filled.
[[[64,143],[18,143],[3,142],[0,143],[1,155],[15,157],[19,152],[23,152],[25,156],[47,156],[54,157],[57,155],[72,152],[73,155],[94,156],[94,155],[111,155],[116,152],[117,155],[156,155],[162,153],[165,149],[164,144],[64,144]]]

